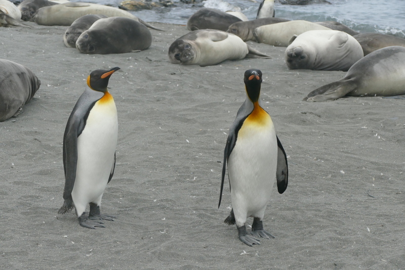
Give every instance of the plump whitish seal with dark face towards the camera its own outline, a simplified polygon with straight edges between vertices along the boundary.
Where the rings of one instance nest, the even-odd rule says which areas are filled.
[[[345,32],[310,30],[297,36],[285,55],[289,69],[347,71],[363,57],[363,50],[357,40]]]

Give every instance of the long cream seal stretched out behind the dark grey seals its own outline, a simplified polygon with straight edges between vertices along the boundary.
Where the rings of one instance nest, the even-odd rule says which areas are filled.
[[[87,14],[101,14],[107,17],[130,18],[144,24],[149,28],[163,31],[142,21],[128,11],[91,3],[65,3],[44,7],[36,12],[36,14],[33,16],[33,20],[40,25],[70,26],[76,19]]]

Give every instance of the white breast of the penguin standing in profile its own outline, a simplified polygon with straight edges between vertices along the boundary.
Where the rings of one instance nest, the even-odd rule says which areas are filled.
[[[75,204],[92,202],[108,183],[118,137],[114,100],[106,93],[91,109],[77,138],[77,168],[72,198]],[[80,202],[79,202],[80,201]]]

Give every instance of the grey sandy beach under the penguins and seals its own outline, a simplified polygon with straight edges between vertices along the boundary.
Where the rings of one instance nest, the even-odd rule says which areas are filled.
[[[0,58],[29,67],[42,85],[17,118],[0,123],[1,269],[402,269],[405,267],[404,100],[310,103],[341,71],[288,70],[284,47],[248,42],[272,59],[175,65],[170,44],[184,25],[153,23],[138,53],[85,55],[66,48],[65,26],[0,29]],[[106,228],[58,215],[62,141],[95,69],[118,66],[109,92],[118,110],[116,167]],[[246,98],[243,75],[263,72],[262,106],[289,162],[264,227],[276,238],[249,247],[235,226],[226,183],[228,129]],[[248,219],[251,224],[253,219]]]

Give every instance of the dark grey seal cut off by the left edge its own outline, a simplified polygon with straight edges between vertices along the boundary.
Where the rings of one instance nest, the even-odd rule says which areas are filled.
[[[0,122],[17,116],[41,85],[29,68],[5,59],[0,59],[0,81]]]

